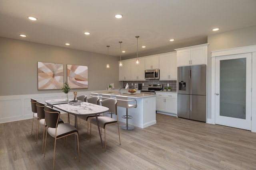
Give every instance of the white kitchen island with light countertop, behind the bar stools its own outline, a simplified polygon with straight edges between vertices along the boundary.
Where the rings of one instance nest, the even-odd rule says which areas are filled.
[[[128,96],[129,99],[137,100],[136,108],[129,108],[128,115],[132,116],[132,119],[129,119],[129,124],[145,128],[151,125],[156,124],[156,95],[155,94],[128,94],[128,93],[118,93],[114,90],[109,91],[98,91],[100,96],[102,94],[110,94],[112,98],[116,96]],[[118,111],[118,121],[126,123],[126,119],[122,118],[122,115],[126,115],[126,108],[117,107]],[[106,116],[107,114],[105,114]],[[108,115],[107,115],[108,116]]]

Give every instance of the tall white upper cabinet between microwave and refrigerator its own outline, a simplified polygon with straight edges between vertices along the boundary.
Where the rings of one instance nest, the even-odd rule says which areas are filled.
[[[177,55],[176,52],[159,55],[160,80],[177,79]]]

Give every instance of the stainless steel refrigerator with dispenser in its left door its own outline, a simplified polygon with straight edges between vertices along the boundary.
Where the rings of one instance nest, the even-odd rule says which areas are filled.
[[[206,65],[178,67],[178,117],[206,122]]]

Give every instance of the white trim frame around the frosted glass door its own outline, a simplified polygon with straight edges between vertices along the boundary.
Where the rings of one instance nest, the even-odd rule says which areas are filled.
[[[246,46],[246,47],[238,47],[233,49],[224,49],[218,51],[212,51],[212,88],[211,88],[211,119],[207,120],[207,123],[215,124],[215,71],[216,71],[216,57],[226,56],[226,55],[236,55],[243,53],[252,53],[252,72],[256,71],[256,45]],[[254,79],[256,75],[252,74],[252,103],[256,102],[256,81]],[[252,132],[256,132],[256,106],[252,104]]]

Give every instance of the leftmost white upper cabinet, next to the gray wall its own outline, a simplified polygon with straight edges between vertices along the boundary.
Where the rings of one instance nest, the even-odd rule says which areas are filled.
[[[119,67],[119,81],[131,80],[131,60],[123,60],[123,66]]]

